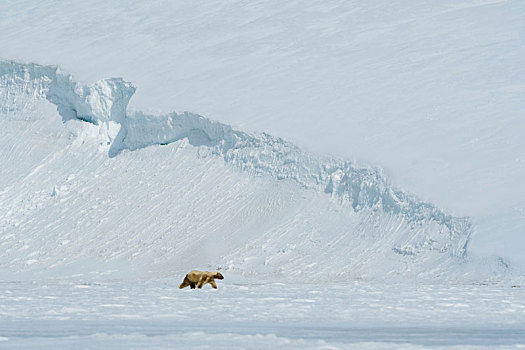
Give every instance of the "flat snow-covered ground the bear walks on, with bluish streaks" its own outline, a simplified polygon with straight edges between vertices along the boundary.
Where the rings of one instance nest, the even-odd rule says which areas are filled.
[[[525,347],[519,287],[239,281],[3,282],[0,348]]]

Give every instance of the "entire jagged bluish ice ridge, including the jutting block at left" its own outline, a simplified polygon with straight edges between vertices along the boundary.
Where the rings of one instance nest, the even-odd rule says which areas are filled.
[[[381,171],[359,167],[335,158],[308,154],[295,145],[268,134],[250,135],[200,115],[184,112],[154,116],[127,113],[135,92],[121,78],[106,79],[90,86],[75,82],[57,67],[0,62],[0,106],[16,108],[21,98],[47,99],[57,106],[63,120],[80,119],[100,126],[111,144],[109,156],[124,150],[164,145],[186,139],[202,152],[222,157],[243,172],[295,181],[304,188],[324,191],[354,211],[383,211],[399,216],[414,228],[436,226],[433,231],[447,243],[442,251],[464,258],[472,225],[469,218],[446,214],[389,184]],[[15,103],[16,102],[16,103]],[[118,134],[111,131],[118,127]],[[116,134],[116,135],[115,135]],[[428,237],[420,237],[426,242]],[[394,247],[400,255],[423,249],[415,245]]]

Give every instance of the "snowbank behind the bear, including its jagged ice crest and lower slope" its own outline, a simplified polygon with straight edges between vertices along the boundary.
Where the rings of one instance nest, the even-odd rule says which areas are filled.
[[[2,270],[89,260],[152,274],[435,277],[466,261],[470,220],[379,169],[189,112],[127,112],[134,92],[120,78],[86,86],[56,67],[0,63],[0,156],[13,168],[0,178]]]

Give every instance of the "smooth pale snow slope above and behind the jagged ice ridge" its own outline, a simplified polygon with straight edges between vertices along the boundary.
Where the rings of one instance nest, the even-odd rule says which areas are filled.
[[[525,266],[523,23],[520,0],[5,0],[0,58],[380,166]]]

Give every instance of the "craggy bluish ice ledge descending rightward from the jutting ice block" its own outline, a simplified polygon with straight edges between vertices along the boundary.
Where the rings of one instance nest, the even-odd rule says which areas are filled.
[[[448,231],[450,239],[458,241],[453,255],[462,257],[466,253],[471,233],[468,218],[453,217],[393,188],[380,169],[313,156],[281,138],[265,133],[249,135],[189,112],[162,116],[136,112],[128,115],[126,128],[123,148],[135,150],[188,138],[192,145],[206,146],[243,172],[288,179],[308,189],[322,190],[341,202],[350,202],[355,211],[373,208],[402,215],[409,222],[435,222]]]

